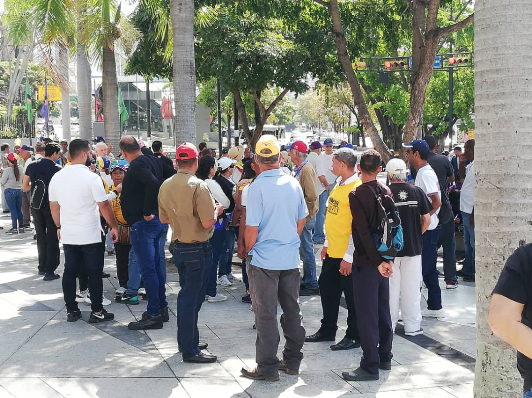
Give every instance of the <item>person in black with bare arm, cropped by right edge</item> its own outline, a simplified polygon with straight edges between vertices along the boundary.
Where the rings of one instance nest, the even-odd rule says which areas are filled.
[[[532,244],[521,246],[506,261],[489,306],[493,333],[515,348],[523,387],[532,389]],[[532,394],[531,394],[532,395]]]

